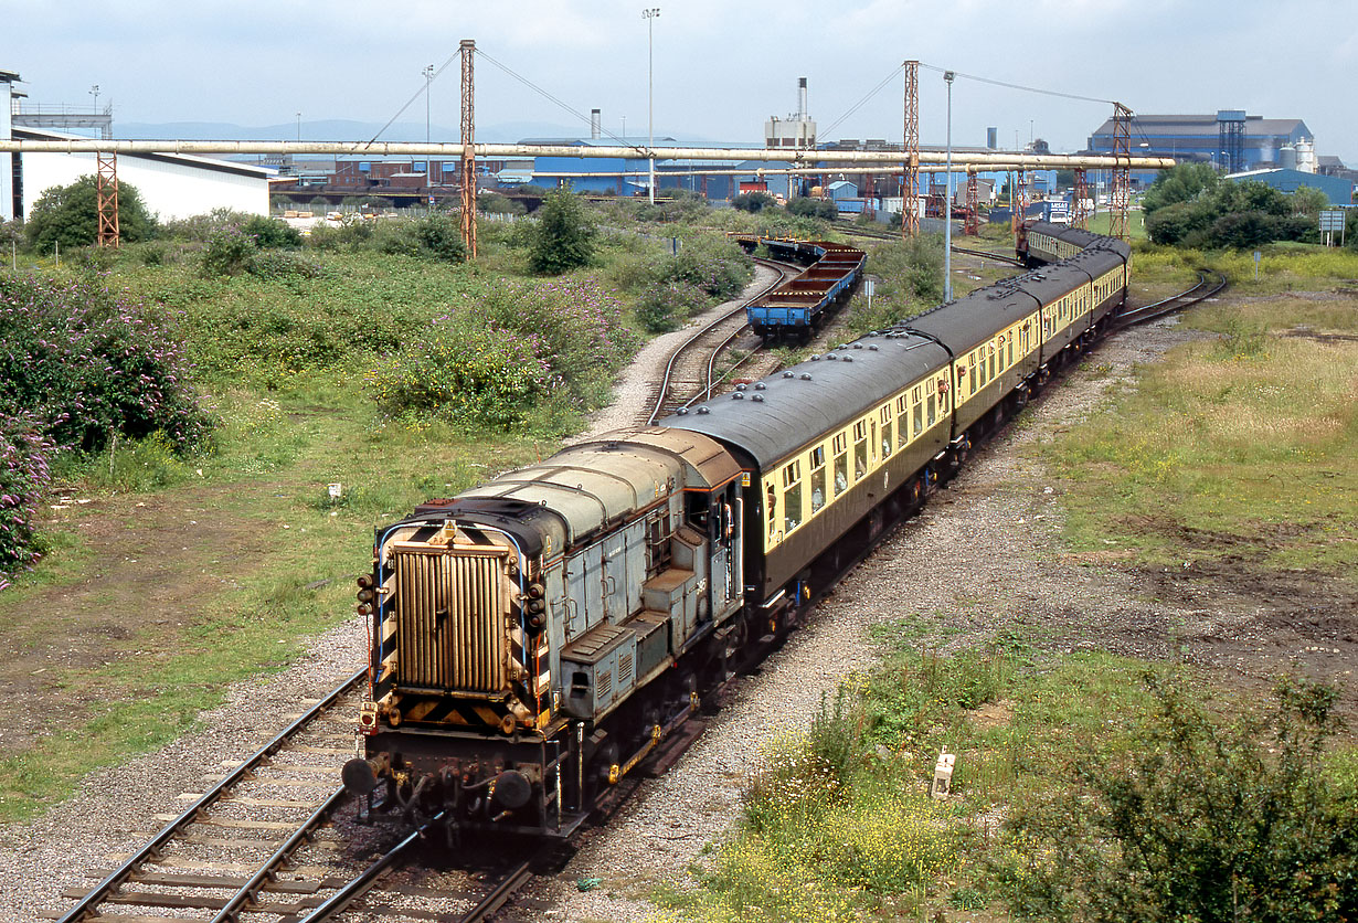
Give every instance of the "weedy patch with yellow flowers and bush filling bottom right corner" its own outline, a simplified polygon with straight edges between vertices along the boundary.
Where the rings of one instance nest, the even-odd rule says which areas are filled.
[[[771,745],[698,888],[661,905],[702,923],[1347,919],[1358,801],[1329,780],[1353,761],[1331,752],[1332,687],[1285,680],[1256,711],[1012,630],[952,657],[911,650],[919,631],[887,626],[885,661]],[[941,751],[945,802],[926,794]]]

